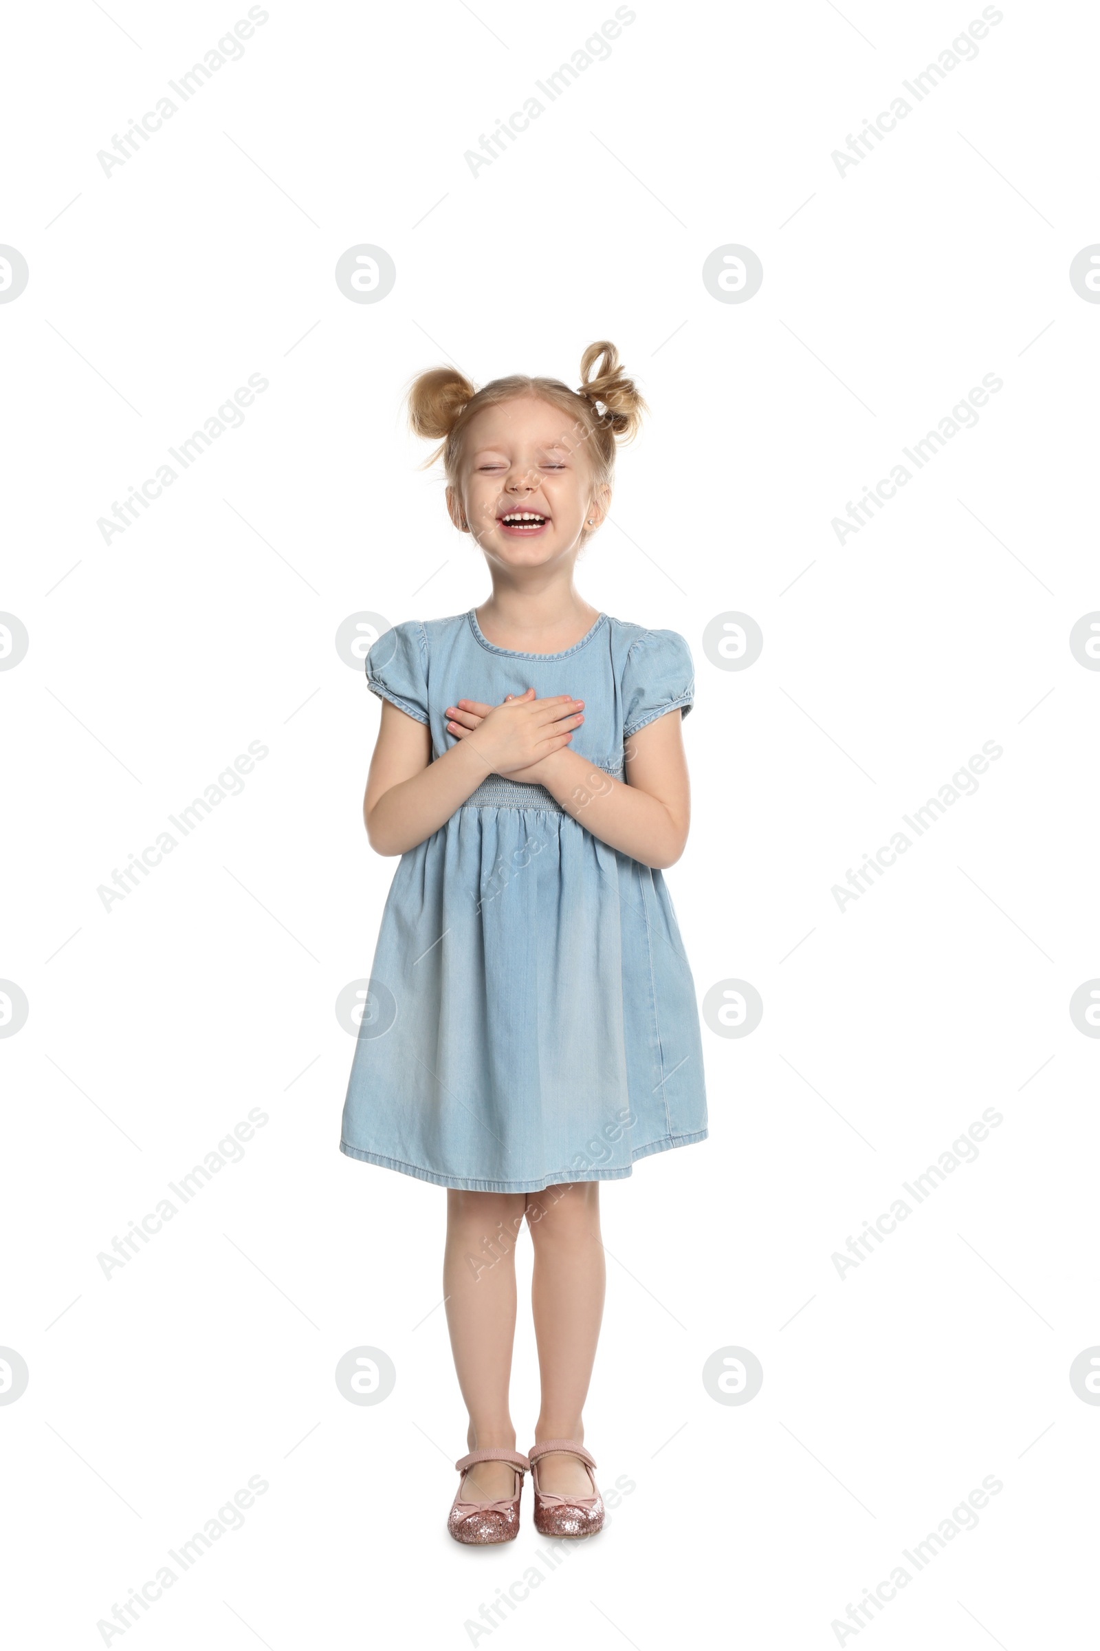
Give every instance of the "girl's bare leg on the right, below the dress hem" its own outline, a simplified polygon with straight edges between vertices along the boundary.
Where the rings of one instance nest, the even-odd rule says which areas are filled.
[[[599,1180],[528,1194],[526,1215],[534,1243],[531,1311],[543,1379],[536,1445],[562,1438],[584,1443],[581,1412],[604,1316],[605,1265],[599,1200]],[[556,1496],[592,1494],[584,1464],[576,1456],[544,1456],[539,1481]]]

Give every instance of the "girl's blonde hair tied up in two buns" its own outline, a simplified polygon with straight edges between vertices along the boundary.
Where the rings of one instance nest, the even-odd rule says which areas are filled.
[[[597,362],[595,375],[589,376]],[[633,380],[622,371],[618,350],[605,338],[590,343],[581,357],[579,390],[571,390],[559,378],[529,378],[526,373],[493,378],[475,390],[457,367],[435,367],[414,378],[407,393],[409,428],[417,436],[440,442],[421,469],[442,459],[447,480],[457,485],[462,442],[473,416],[482,408],[515,401],[518,396],[549,401],[569,414],[574,428],[579,426],[577,444],[584,442],[587,449],[594,487],[610,487],[617,442],[633,441],[642,428],[642,414],[650,411]]]

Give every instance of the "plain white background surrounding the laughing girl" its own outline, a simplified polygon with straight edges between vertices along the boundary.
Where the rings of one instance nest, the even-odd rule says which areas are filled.
[[[97,150],[246,8],[109,12],[13,15],[0,116],[0,241],[30,264],[0,305],[0,608],[30,634],[0,674],[0,976],[30,1002],[0,1040],[0,1342],[30,1367],[0,1407],[12,1641],[102,1644],[259,1474],[244,1527],[110,1644],[1077,1643],[1100,1045],[1069,999],[1100,974],[1100,675],[1069,631],[1100,606],[1100,307],[1069,264],[1100,239],[1097,17],[1006,3],[841,177],[831,152],[978,5],[638,3],[473,177],[463,152],[613,7],[272,0],[107,177]],[[356,243],[396,263],[379,304],[333,279]],[[727,243],[764,264],[745,304],[701,279]],[[577,584],[691,646],[668,883],[699,1001],[745,979],[764,1020],[704,1029],[709,1141],[604,1192],[587,1440],[602,1486],[635,1489],[475,1638],[539,1542],[529,1486],[513,1545],[449,1540],[444,1194],[336,1146],[333,1005],[369,972],[394,862],[361,822],[379,707],[335,634],[488,594],[416,469],[409,378],[576,385],[604,337],[651,416]],[[244,424],[106,545],[97,518],[251,373]],[[976,428],[839,545],[831,518],[986,373]],[[703,647],[729,611],[764,631],[744,672]],[[99,885],[249,741],[269,756],[244,791],[106,911]],[[1003,756],[976,794],[841,913],[831,887],[985,741]],[[980,1157],[838,1276],[991,1106]],[[242,1161],[107,1280],[97,1255],[251,1108]],[[519,1266],[523,1306],[526,1243]],[[397,1370],[376,1407],[333,1380],[363,1344]],[[703,1387],[729,1346],[764,1367],[747,1405]],[[521,1311],[521,1448],[536,1408]],[[838,1634],[990,1474],[978,1527]]]

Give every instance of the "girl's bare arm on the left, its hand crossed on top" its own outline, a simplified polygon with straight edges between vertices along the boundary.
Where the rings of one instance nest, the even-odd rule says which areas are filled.
[[[519,773],[544,753],[566,753],[582,721],[567,693],[496,707],[477,738],[460,740],[430,761],[432,733],[383,700],[383,720],[363,796],[366,837],[376,854],[407,854],[445,826],[487,774]],[[587,769],[587,764],[582,764]]]

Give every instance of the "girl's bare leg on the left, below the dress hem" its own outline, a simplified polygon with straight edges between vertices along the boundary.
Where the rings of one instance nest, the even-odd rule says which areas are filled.
[[[468,1450],[516,1448],[508,1412],[511,1344],[516,1331],[516,1233],[523,1192],[447,1189],[444,1296],[458,1387],[470,1413]],[[511,1496],[515,1469],[477,1463],[463,1476],[463,1497],[488,1502]]]

